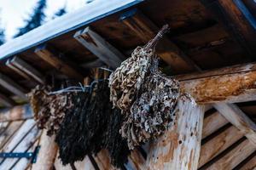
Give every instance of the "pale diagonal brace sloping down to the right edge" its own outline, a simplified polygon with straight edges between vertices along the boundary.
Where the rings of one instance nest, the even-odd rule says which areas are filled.
[[[238,106],[230,104],[218,104],[214,107],[241,133],[244,133],[247,139],[254,144],[256,148],[256,124],[244,114]]]

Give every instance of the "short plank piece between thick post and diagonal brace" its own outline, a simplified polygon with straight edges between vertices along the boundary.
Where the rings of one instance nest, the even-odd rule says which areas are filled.
[[[210,134],[216,132],[220,127],[228,124],[229,121],[224,118],[218,111],[215,111],[210,116],[204,118],[202,139],[207,138]]]

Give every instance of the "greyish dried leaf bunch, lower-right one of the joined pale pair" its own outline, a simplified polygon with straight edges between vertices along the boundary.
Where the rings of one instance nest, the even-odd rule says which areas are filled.
[[[179,95],[179,83],[154,68],[122,126],[122,136],[131,150],[149,139],[156,139],[172,126]]]

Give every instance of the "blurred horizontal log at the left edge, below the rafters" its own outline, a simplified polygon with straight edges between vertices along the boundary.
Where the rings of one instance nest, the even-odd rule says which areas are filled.
[[[9,110],[0,111],[0,122],[19,121],[32,118],[30,105],[18,105]]]

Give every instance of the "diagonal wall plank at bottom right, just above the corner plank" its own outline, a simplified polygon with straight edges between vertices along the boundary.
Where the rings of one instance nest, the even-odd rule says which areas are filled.
[[[248,140],[244,140],[241,144],[237,145],[236,148],[231,150],[225,156],[221,157],[218,161],[214,162],[207,170],[215,169],[233,169],[241,161],[245,160],[247,156],[250,156],[256,147]]]

